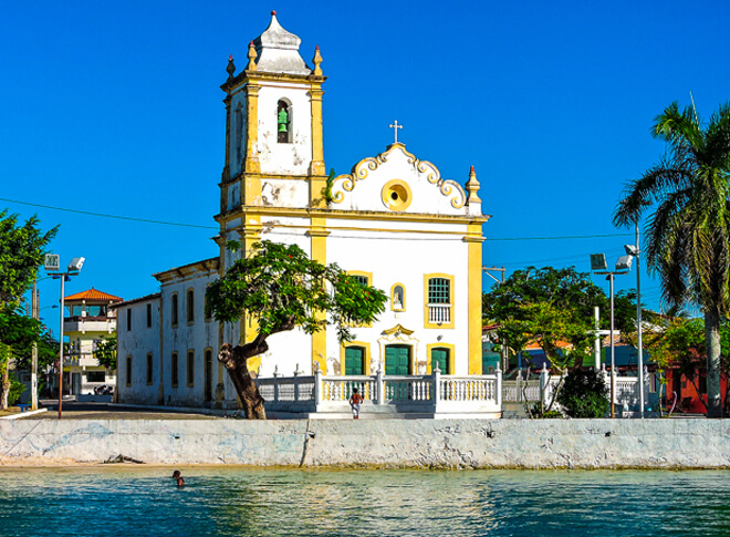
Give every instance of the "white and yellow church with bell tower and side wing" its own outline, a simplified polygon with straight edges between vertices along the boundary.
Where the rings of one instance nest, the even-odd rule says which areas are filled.
[[[219,256],[155,275],[160,292],[117,308],[122,402],[234,407],[236,391],[217,353],[253,338],[246,320],[219,326],[205,314],[207,285],[253,242],[296,244],[389,293],[386,311],[356,327],[270,337],[250,363],[259,378],[313,374],[482,374],[482,214],[473,172],[463,186],[441,177],[397,141],[327,180],[319,48],[312,65],[301,40],[272,12],[237,73],[229,60],[226,163],[220,187]],[[465,172],[466,172],[465,166]],[[230,251],[228,240],[242,248]],[[483,373],[487,373],[484,371]]]

